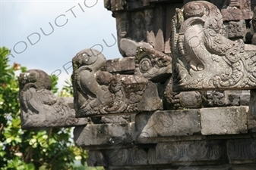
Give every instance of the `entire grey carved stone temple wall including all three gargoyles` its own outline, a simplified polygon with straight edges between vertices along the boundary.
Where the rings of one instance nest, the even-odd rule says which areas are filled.
[[[74,98],[21,74],[22,128],[75,126],[88,165],[109,170],[256,169],[256,1],[104,5],[122,57],[77,53]]]

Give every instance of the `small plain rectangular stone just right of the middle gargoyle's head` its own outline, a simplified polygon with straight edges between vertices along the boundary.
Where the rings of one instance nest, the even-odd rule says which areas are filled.
[[[109,73],[132,74],[134,70],[134,57],[124,57],[106,61],[106,71]]]

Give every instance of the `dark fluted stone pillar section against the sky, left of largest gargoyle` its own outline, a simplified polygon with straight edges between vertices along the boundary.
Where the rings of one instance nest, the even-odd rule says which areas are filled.
[[[175,8],[181,8],[183,3],[177,0],[145,2],[109,0],[105,5],[113,11],[116,19],[119,51],[123,57],[134,56],[137,47],[171,54],[169,37],[172,24],[169,18],[175,13]]]

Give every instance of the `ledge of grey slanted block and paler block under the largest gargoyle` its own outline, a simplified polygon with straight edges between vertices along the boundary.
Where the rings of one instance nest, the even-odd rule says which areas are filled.
[[[215,107],[139,113],[135,118],[136,142],[151,143],[156,138],[202,140],[204,135],[247,134],[256,127],[248,107]],[[197,134],[203,134],[197,135]],[[216,137],[218,138],[218,137]],[[229,138],[223,137],[220,138]],[[156,140],[157,142],[157,140]]]

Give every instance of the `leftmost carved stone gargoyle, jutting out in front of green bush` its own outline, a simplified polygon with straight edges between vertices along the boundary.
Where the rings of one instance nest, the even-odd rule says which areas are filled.
[[[59,128],[87,125],[87,118],[76,118],[73,97],[56,97],[51,79],[42,70],[28,70],[19,76],[21,128]]]

